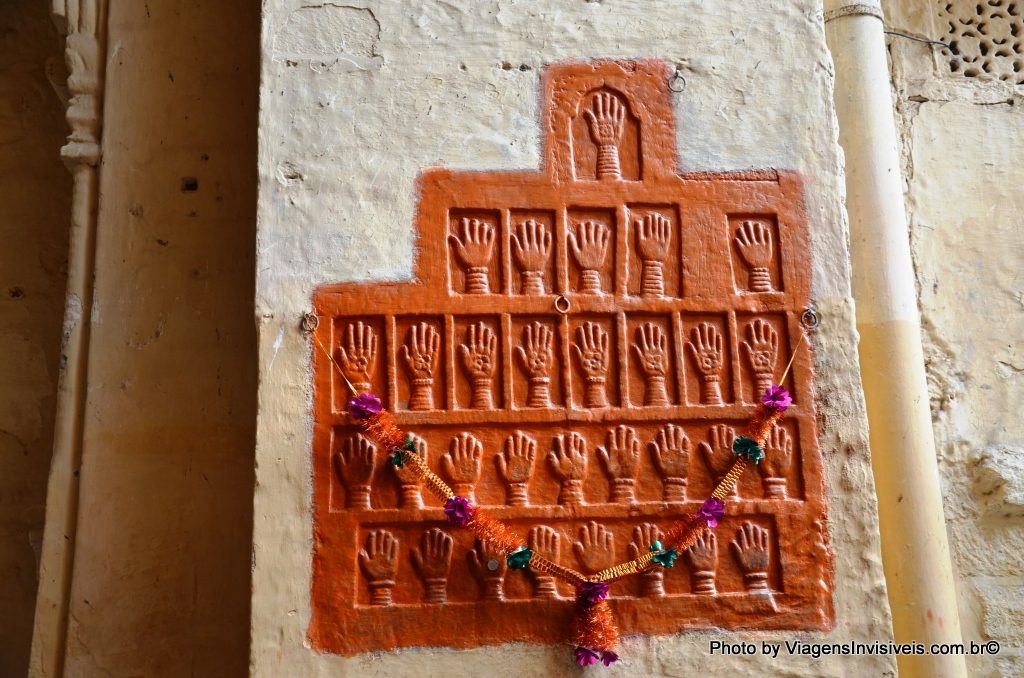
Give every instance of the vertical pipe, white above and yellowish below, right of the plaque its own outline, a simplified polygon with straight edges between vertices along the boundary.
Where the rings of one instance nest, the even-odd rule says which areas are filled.
[[[860,369],[870,427],[883,566],[898,643],[958,643],[956,586],[932,431],[898,138],[878,0],[825,0]],[[904,676],[967,675],[963,656],[898,658]]]

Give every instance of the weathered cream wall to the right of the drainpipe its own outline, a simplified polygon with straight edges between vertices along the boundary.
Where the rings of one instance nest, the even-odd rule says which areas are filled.
[[[891,28],[955,38],[946,2],[887,7]],[[995,11],[1005,3],[995,3]],[[993,3],[951,3],[1001,40],[1010,19],[978,17]],[[1008,16],[1008,15],[1005,15]],[[963,26],[963,25],[962,25]],[[1011,41],[1012,42],[1012,41]],[[967,639],[999,641],[969,658],[978,675],[1024,673],[1024,111],[1016,78],[965,77],[941,47],[890,39],[904,141],[936,449]],[[1007,43],[1009,45],[1010,43]],[[994,56],[996,46],[989,50]],[[959,51],[981,53],[978,42]],[[1014,50],[990,65],[1013,76]],[[978,69],[981,70],[979,60]],[[990,66],[991,68],[991,66]],[[982,71],[983,73],[983,71]]]

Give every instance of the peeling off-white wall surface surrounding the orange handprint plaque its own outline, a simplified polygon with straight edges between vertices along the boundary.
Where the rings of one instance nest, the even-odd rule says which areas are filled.
[[[299,322],[318,285],[410,277],[415,181],[423,168],[536,168],[541,68],[595,56],[654,57],[680,67],[686,88],[675,104],[684,170],[775,167],[807,177],[812,294],[823,317],[813,341],[816,387],[837,554],[837,625],[828,637],[890,637],[840,207],[831,65],[818,4],[264,3],[255,675],[567,671],[564,646],[352,660],[307,647],[313,348]],[[709,640],[721,637],[628,638],[620,670],[777,670],[778,661],[766,658],[710,656]],[[885,658],[782,661],[791,675],[894,671]]]

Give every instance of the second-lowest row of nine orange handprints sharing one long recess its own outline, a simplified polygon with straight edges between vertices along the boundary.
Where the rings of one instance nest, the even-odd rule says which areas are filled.
[[[416,448],[415,454],[429,460],[427,442],[415,433],[410,434]],[[736,430],[727,424],[716,424],[708,430],[706,440],[697,444],[716,482],[731,468],[735,460],[732,443]],[[690,472],[692,443],[681,426],[666,424],[647,442],[654,470],[662,478],[663,500],[686,501],[686,484]],[[581,505],[587,503],[584,484],[597,457],[610,481],[608,497],[590,497],[592,503],[610,502],[633,504],[636,499],[636,479],[642,455],[640,436],[636,429],[625,424],[608,429],[604,444],[592,447],[578,432],[560,433],[552,441],[547,454],[548,466],[559,483],[558,503]],[[345,506],[373,508],[371,483],[374,471],[383,455],[377,446],[361,433],[352,433],[338,440],[334,453],[334,467],[345,486]],[[515,431],[505,439],[501,452],[495,455],[495,465],[506,488],[509,506],[528,506],[529,483],[538,470],[538,441],[523,431]],[[463,432],[452,437],[447,452],[440,458],[440,473],[452,484],[455,493],[476,503],[475,488],[480,480],[483,460],[483,442],[472,433]],[[764,497],[785,499],[790,470],[794,462],[794,440],[782,426],[775,426],[765,444],[765,459],[758,465]],[[399,506],[422,508],[423,494],[419,476],[409,466],[396,467],[401,485]],[[733,490],[733,496],[738,496]],[[380,508],[380,507],[378,507]]]

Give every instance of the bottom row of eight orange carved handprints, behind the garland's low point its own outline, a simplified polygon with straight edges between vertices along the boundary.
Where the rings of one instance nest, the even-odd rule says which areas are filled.
[[[592,521],[580,528],[580,538],[571,545],[575,556],[573,566],[586,573],[597,573],[613,565],[618,557],[615,535],[598,522]],[[633,529],[633,540],[627,545],[629,559],[647,553],[655,541],[662,539],[657,525],[644,522]],[[527,544],[535,553],[552,562],[562,560],[562,545],[569,540],[558,529],[548,525],[530,528]],[[427,603],[447,602],[447,581],[452,567],[454,540],[440,527],[423,533],[420,545],[411,549],[410,559],[423,582],[423,600]],[[770,534],[755,522],[740,524],[732,540],[731,552],[743,576],[743,587],[750,593],[768,593],[768,567],[770,563]],[[375,529],[367,535],[366,546],[359,551],[359,567],[370,590],[370,603],[390,605],[392,590],[398,574],[398,539],[387,529]],[[709,532],[697,538],[693,546],[682,553],[690,574],[690,591],[698,595],[715,595],[718,573],[718,538]],[[477,539],[466,554],[469,569],[479,584],[479,599],[505,600],[505,576],[508,565],[505,556],[487,541]],[[640,595],[662,597],[665,591],[666,570],[652,567],[640,576]],[[530,569],[534,595],[537,598],[559,598],[555,578]]]

